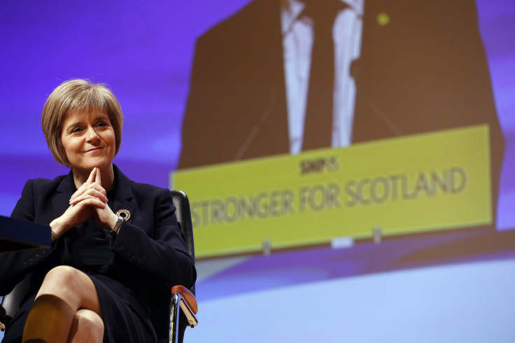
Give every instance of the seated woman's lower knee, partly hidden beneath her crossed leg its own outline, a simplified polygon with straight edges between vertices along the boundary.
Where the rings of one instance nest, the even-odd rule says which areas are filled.
[[[71,324],[69,343],[102,342],[104,337],[104,321],[89,309],[79,309]]]

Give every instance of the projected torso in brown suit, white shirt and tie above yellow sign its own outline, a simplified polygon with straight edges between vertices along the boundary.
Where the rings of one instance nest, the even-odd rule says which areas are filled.
[[[309,2],[251,1],[199,37],[180,168],[487,124],[498,176],[474,1]]]

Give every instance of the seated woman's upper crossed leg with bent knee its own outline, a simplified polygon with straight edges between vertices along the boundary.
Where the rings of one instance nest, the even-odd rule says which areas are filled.
[[[23,342],[68,342],[78,309],[88,309],[101,318],[92,279],[66,265],[53,268],[36,295],[25,323]]]

